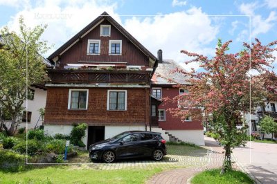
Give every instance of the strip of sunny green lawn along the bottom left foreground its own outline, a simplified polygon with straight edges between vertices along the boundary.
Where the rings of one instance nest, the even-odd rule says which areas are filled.
[[[144,183],[150,176],[161,171],[161,168],[100,171],[54,166],[26,172],[0,172],[0,183]]]

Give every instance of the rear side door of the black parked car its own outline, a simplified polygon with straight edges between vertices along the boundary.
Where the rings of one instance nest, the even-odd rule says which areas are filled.
[[[152,156],[154,148],[157,147],[157,140],[154,140],[155,134],[140,133],[139,140],[139,155],[140,156]]]

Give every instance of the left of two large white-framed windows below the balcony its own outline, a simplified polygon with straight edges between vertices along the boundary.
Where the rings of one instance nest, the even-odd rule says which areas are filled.
[[[88,89],[69,89],[68,109],[87,109],[88,95]]]

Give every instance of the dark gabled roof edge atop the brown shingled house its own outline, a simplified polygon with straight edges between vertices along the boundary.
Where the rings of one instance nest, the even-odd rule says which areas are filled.
[[[152,53],[150,53],[150,51],[146,49],[141,43],[139,43],[139,41],[137,41],[132,35],[130,35],[127,32],[127,30],[125,30],[125,28],[120,26],[120,24],[118,24],[111,16],[109,16],[107,12],[103,12],[99,17],[91,21],[89,25],[84,27],[79,33],[77,33],[75,36],[69,39],[69,41],[67,41],[65,44],[60,46],[60,48],[55,50],[54,53],[49,55],[48,59],[52,60],[53,58],[59,56],[64,50],[66,50],[66,48],[69,48],[73,46],[75,43],[77,43],[78,39],[80,39],[82,35],[86,34],[88,31],[91,30],[91,28],[97,26],[97,24],[99,24],[99,22],[101,22],[104,19],[109,21],[115,28],[117,28],[120,31],[120,33],[127,37],[127,39],[129,39],[129,41],[132,42],[137,48],[139,48],[139,50],[141,50],[145,55],[150,57],[150,59],[152,59],[155,63],[157,62],[157,58],[154,55],[152,55]]]

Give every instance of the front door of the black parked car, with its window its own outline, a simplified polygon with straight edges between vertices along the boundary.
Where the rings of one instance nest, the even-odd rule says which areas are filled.
[[[139,155],[139,134],[129,134],[119,140],[120,145],[116,149],[118,158],[136,157]]]

